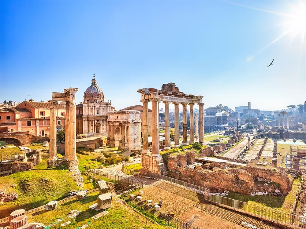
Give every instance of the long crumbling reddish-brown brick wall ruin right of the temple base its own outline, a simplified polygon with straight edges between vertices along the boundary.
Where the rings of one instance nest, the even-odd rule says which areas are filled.
[[[225,169],[225,166],[219,163],[207,163],[202,167],[196,166],[195,169],[187,168],[186,165],[194,161],[194,152],[186,151],[185,154],[172,155],[167,158],[169,170],[166,172],[166,175],[209,188],[211,192],[228,190],[250,194],[251,191],[267,191],[273,194],[274,189],[279,189],[283,194],[287,194],[292,187],[293,180],[290,180],[286,173],[287,171],[281,168],[272,170],[246,165],[239,169]]]

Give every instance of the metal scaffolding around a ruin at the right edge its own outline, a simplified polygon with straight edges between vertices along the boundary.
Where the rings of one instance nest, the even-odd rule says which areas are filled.
[[[286,155],[286,168],[306,172],[306,147],[290,146],[290,154]]]

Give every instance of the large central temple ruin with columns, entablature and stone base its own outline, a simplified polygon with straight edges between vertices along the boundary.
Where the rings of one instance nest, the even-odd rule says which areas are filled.
[[[203,96],[188,95],[180,92],[175,83],[163,84],[162,89],[143,88],[137,90],[141,93],[143,103],[143,151],[141,154],[141,164],[143,172],[155,172],[164,174],[166,165],[162,163],[162,156],[159,154],[159,102],[165,104],[165,148],[170,148],[170,125],[169,125],[169,104],[174,104],[174,147],[180,145],[179,142],[179,104],[183,106],[183,144],[187,142],[187,105],[190,108],[190,142],[194,142],[194,116],[193,105],[199,105],[199,142],[204,142],[204,104]],[[148,147],[148,103],[152,103],[152,152]]]

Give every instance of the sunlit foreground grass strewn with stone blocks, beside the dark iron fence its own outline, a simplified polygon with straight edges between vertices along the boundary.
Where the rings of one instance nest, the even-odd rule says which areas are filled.
[[[107,209],[108,215],[100,217],[98,220],[93,220],[91,217],[103,210],[95,211],[88,208],[97,202],[98,193],[90,193],[88,197],[81,201],[76,199],[68,202],[60,203],[56,209],[52,211],[45,211],[44,209],[28,216],[28,222],[42,222],[46,226],[52,224],[51,228],[63,228],[61,224],[67,221],[71,221],[71,224],[65,226],[65,229],[74,229],[81,227],[84,224],[88,224],[88,229],[91,228],[106,228],[106,229],[123,229],[123,228],[164,228],[159,225],[150,224],[149,220],[143,216],[134,212],[128,206],[122,206],[116,202],[114,197],[112,200],[111,208]],[[67,215],[71,210],[79,210],[81,213],[74,219],[68,218]],[[57,219],[62,219],[61,222],[57,222]]]

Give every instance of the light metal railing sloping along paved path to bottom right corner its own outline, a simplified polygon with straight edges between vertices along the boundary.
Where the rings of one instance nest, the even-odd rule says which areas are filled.
[[[291,213],[250,204],[216,194],[204,194],[204,200],[214,204],[220,204],[226,207],[240,209],[242,212],[264,217],[276,223],[281,222],[284,224],[293,225],[296,228],[306,228],[306,218],[304,218],[304,216],[297,216]]]

